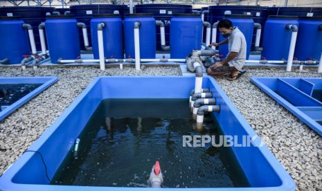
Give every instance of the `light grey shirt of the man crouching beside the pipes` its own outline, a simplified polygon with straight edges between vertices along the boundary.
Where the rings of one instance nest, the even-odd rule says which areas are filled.
[[[229,53],[238,53],[233,60],[228,62],[229,66],[234,66],[238,71],[242,71],[242,66],[244,66],[246,60],[247,44],[244,34],[237,27],[233,28],[233,33],[228,37],[228,50]]]

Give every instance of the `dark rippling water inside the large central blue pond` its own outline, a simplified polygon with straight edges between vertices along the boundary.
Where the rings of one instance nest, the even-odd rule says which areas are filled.
[[[218,135],[214,122],[194,127],[186,99],[105,100],[51,184],[147,187],[159,161],[163,188],[249,187],[230,148],[182,146],[183,135]]]

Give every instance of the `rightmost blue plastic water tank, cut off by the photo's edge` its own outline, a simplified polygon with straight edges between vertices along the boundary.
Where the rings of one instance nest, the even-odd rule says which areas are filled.
[[[320,60],[322,17],[300,17],[294,56],[298,60]]]

